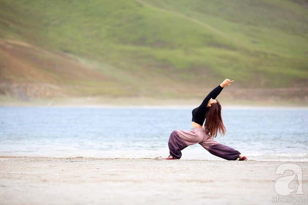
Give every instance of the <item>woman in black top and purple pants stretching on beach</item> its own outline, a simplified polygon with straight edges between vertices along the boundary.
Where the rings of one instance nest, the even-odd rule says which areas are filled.
[[[166,160],[180,159],[182,157],[181,150],[196,143],[203,146],[209,153],[223,159],[247,160],[239,151],[213,139],[218,133],[225,135],[226,132],[221,117],[221,105],[215,98],[224,86],[229,86],[233,82],[229,79],[224,80],[206,96],[199,107],[192,110],[191,131],[176,130],[171,133],[168,142],[170,155],[165,158]]]

